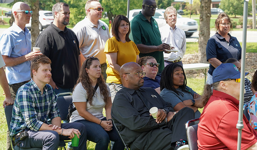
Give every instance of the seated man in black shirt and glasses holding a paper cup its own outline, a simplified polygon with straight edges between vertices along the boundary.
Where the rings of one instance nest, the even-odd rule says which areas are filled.
[[[185,124],[194,119],[191,108],[174,112],[152,88],[144,84],[141,66],[128,62],[121,66],[122,89],[112,104],[111,115],[126,145],[131,150],[139,149],[189,149]],[[149,110],[158,108],[154,119]]]

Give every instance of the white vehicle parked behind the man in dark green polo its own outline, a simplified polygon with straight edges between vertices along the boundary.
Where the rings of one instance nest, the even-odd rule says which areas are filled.
[[[129,11],[129,21],[131,21],[136,15],[138,15],[141,9],[133,9]],[[165,9],[157,9],[155,11],[155,18],[159,28],[166,24],[164,19],[164,11]],[[180,14],[177,14],[177,23],[176,26],[180,29],[184,30],[187,37],[191,37],[194,32],[197,32],[198,24],[197,21],[194,19],[184,18]]]

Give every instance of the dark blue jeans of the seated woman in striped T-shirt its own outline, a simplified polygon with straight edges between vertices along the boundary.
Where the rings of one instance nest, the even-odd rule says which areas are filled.
[[[106,117],[102,120],[106,120]],[[124,150],[125,146],[114,127],[111,131],[105,131],[99,124],[87,120],[77,120],[75,122],[86,126],[86,139],[96,143],[95,150],[107,150],[110,140],[114,141],[113,150]]]

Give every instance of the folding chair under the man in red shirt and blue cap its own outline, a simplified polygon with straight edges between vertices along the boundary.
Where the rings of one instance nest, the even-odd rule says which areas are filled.
[[[197,146],[197,128],[198,124],[191,125],[191,123],[194,123],[196,121],[199,121],[199,118],[189,120],[186,123],[186,132],[187,132],[187,142],[189,145],[189,150],[198,150]]]

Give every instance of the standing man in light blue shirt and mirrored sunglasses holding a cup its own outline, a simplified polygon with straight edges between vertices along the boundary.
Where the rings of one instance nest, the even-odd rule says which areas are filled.
[[[0,51],[5,62],[5,74],[13,100],[15,100],[18,88],[31,79],[30,60],[42,55],[40,51],[31,52],[31,34],[25,27],[32,13],[26,3],[15,3],[12,6],[15,22],[4,31],[0,38]],[[9,135],[7,136],[7,149],[11,149]]]

